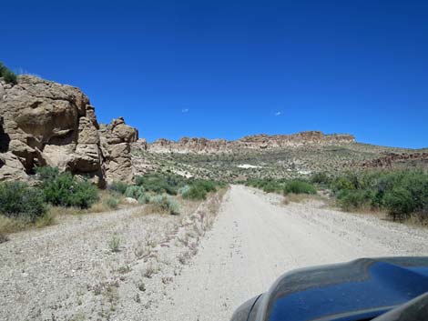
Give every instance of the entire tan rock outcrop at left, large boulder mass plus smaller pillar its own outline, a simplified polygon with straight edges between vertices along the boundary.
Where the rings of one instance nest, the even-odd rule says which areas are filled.
[[[87,95],[70,85],[21,75],[0,79],[0,181],[28,179],[35,166],[57,166],[107,180],[132,179],[130,145],[138,131],[123,118],[100,128]]]

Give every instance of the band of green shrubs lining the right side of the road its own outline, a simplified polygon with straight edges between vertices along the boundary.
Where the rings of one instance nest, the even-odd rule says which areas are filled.
[[[422,169],[317,173],[306,180],[253,179],[245,184],[286,196],[324,190],[344,211],[381,211],[394,220],[428,222],[428,173]]]

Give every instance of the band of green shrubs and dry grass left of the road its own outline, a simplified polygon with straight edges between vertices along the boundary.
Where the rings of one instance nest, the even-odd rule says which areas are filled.
[[[138,176],[135,185],[113,182],[100,190],[85,177],[37,167],[36,184],[0,183],[0,242],[29,227],[52,225],[61,214],[99,213],[120,206],[148,205],[151,213],[179,215],[180,199],[205,200],[224,184],[171,173]]]

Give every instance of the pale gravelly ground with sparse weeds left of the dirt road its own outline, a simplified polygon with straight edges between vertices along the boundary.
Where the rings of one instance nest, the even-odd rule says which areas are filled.
[[[183,201],[180,216],[141,206],[10,236],[0,244],[0,320],[149,320],[198,253],[223,195]]]

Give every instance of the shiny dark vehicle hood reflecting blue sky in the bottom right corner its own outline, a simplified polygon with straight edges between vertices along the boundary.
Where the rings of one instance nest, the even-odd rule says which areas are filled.
[[[363,258],[292,271],[257,302],[257,321],[353,321],[428,292],[428,257]]]

